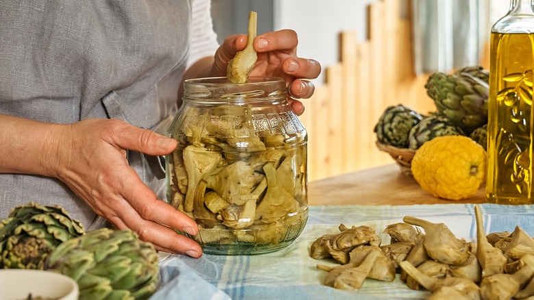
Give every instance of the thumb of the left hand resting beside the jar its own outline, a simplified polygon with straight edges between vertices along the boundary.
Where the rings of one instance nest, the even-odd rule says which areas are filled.
[[[174,138],[133,125],[126,125],[120,132],[121,134],[116,139],[118,147],[148,155],[165,155],[173,152],[178,145]]]

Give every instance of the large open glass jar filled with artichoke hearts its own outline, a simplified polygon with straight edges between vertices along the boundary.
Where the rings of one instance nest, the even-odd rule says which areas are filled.
[[[290,245],[307,221],[307,133],[285,80],[184,82],[168,135],[167,201],[199,225],[205,253],[258,254]]]

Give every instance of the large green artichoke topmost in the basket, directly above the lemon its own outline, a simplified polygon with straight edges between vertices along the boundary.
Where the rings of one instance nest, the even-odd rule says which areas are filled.
[[[437,111],[469,134],[487,123],[488,78],[481,67],[467,67],[453,75],[433,73],[424,87]]]

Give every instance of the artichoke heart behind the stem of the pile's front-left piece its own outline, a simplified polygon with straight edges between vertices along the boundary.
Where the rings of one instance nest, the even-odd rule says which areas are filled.
[[[390,258],[388,258],[377,246],[356,247],[348,254],[348,257],[350,258],[348,263],[353,266],[359,266],[372,251],[379,252],[380,255],[374,262],[367,277],[382,282],[392,282],[395,279],[395,266]]]

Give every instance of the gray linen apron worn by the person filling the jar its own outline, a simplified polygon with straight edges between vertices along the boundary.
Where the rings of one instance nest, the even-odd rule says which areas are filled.
[[[0,1],[0,114],[156,129],[177,111],[191,1]],[[128,159],[162,199],[164,179],[146,155],[129,151]],[[99,223],[58,179],[0,174],[0,218],[29,201],[62,205],[88,229]]]

